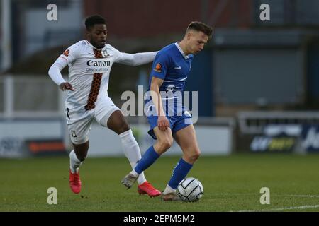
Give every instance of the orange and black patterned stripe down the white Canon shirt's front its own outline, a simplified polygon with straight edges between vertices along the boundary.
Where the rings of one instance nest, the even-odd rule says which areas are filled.
[[[94,55],[96,58],[103,58],[101,50],[98,50],[98,49],[93,49],[93,50],[94,50]],[[101,86],[102,75],[103,73],[93,74],[93,81],[92,81],[91,90],[89,93],[89,99],[85,106],[86,111],[94,109],[95,107],[95,102],[96,102],[97,96],[99,95],[99,90]]]

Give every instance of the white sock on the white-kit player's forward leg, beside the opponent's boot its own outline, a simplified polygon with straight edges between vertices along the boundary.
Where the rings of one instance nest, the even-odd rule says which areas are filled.
[[[134,169],[142,157],[140,155],[140,147],[138,146],[138,142],[136,142],[131,129],[121,133],[119,136],[121,138],[125,156],[128,158],[131,167]],[[146,178],[144,172],[142,172],[138,177],[138,184],[142,184],[144,182],[146,182]]]

